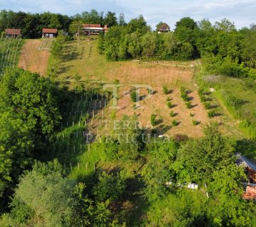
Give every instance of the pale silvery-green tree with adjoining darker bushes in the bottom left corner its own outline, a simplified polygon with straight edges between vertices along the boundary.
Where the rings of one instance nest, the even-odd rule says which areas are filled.
[[[33,169],[21,177],[11,200],[11,211],[2,216],[0,224],[3,227],[125,226],[112,218],[109,209],[111,199],[118,198],[124,187],[122,177],[103,172],[92,188],[96,198],[93,200],[85,193],[85,184],[67,178],[58,160],[35,162]]]

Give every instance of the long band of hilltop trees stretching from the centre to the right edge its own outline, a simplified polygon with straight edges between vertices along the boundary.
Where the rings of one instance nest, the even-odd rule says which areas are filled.
[[[215,24],[181,18],[174,32],[152,32],[142,16],[126,26],[114,26],[100,37],[99,50],[108,60],[157,57],[163,60],[192,60],[202,57],[210,73],[255,77],[255,25],[235,28],[223,19]]]

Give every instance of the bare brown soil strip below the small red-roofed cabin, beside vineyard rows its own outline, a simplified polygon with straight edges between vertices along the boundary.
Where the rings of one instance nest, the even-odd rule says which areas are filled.
[[[41,40],[26,40],[21,49],[18,67],[46,76],[50,52],[48,50],[38,50],[40,45]]]

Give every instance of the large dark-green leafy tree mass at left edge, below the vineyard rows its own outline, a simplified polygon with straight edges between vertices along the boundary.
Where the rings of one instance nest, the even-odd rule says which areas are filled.
[[[46,148],[61,116],[53,82],[21,69],[6,70],[0,82],[0,209],[23,170]]]

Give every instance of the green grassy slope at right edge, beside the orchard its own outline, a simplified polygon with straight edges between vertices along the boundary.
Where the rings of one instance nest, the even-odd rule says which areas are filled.
[[[253,79],[223,76],[201,77],[202,86],[215,88],[215,97],[236,119],[240,131],[256,138],[256,83]]]

